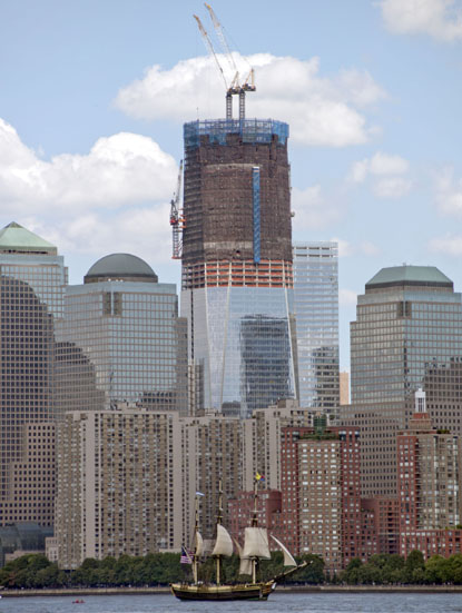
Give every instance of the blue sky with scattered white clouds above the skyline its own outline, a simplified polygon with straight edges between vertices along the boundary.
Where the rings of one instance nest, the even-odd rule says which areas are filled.
[[[341,367],[357,294],[385,266],[462,290],[462,1],[215,0],[247,117],[291,126],[293,238],[340,244]],[[0,0],[0,227],[58,246],[71,284],[131,253],[179,288],[169,201],[183,123],[233,78],[196,0]]]

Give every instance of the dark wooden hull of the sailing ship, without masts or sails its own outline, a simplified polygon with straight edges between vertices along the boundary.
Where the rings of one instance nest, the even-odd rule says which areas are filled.
[[[173,583],[171,593],[184,601],[266,601],[275,590],[276,583],[240,583],[236,585],[193,585]]]

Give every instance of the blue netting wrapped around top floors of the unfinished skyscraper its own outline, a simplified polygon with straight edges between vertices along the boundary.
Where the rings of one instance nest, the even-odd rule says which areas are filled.
[[[226,145],[227,135],[240,135],[243,142],[271,142],[277,136],[282,145],[288,138],[288,125],[273,119],[206,119],[184,125],[185,147],[198,147],[201,136]]]

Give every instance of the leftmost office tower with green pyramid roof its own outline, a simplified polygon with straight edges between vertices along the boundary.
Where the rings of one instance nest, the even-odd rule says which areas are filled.
[[[56,327],[67,269],[57,248],[12,223],[0,231],[0,525],[52,525]]]

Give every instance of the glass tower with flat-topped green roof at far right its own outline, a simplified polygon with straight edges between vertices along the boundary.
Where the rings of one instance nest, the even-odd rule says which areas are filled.
[[[438,268],[382,268],[366,284],[351,324],[352,404],[403,402],[461,357],[461,294]]]

